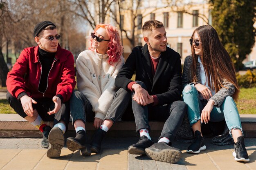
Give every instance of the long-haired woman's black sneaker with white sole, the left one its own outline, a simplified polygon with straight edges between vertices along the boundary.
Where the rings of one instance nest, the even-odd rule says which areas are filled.
[[[195,139],[193,143],[188,147],[186,152],[188,153],[200,153],[201,150],[206,150],[206,146],[204,145],[204,137],[201,136],[201,132],[195,131]]]

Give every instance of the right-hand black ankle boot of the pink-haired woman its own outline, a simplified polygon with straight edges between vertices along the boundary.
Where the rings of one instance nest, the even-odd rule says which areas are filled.
[[[97,129],[92,137],[91,150],[94,153],[99,153],[101,150],[101,141],[107,132],[101,128]]]

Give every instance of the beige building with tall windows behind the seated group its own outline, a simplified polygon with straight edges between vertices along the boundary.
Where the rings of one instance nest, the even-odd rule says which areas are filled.
[[[132,1],[128,0],[122,4],[127,7],[127,10],[121,11],[121,23],[123,23],[125,30],[132,30],[132,12],[134,13],[135,10],[131,11],[130,9],[136,9],[136,4],[129,2]],[[143,0],[141,2],[137,10],[137,18],[135,19],[135,25],[137,25],[137,27],[135,27],[135,46],[145,44],[141,30],[143,23],[147,20],[159,20],[164,23],[168,46],[180,53],[183,63],[184,58],[191,54],[189,38],[191,38],[194,29],[207,24],[208,20],[203,20],[203,17],[207,19],[211,18],[211,16],[209,16],[209,4],[206,0],[189,1],[187,3],[174,5],[164,2],[166,2],[166,0]],[[181,10],[186,12],[178,12]],[[131,32],[132,31],[128,33]],[[123,32],[124,56],[127,57],[133,47],[126,40],[124,35],[125,33]]]

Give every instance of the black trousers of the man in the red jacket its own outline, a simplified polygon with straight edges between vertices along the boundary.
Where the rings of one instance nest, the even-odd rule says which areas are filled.
[[[7,92],[6,95],[7,101],[10,106],[18,113],[21,117],[27,117],[27,114],[22,108],[22,104],[16,97],[13,97],[11,93]],[[34,98],[33,98],[34,99]],[[32,104],[33,109],[37,110],[38,115],[45,121],[54,121],[54,125],[57,124],[60,120],[65,122],[66,129],[70,121],[70,104],[69,101],[61,104],[60,110],[52,115],[48,115],[47,112],[53,110],[55,107],[54,102],[50,98],[34,99],[37,104]],[[67,130],[66,130],[67,131]]]

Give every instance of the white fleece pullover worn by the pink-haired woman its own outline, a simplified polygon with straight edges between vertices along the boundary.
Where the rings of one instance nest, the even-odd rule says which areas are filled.
[[[76,60],[78,90],[92,104],[95,117],[104,119],[114,98],[115,77],[124,65],[124,57],[113,65],[108,64],[108,54],[85,50]]]

